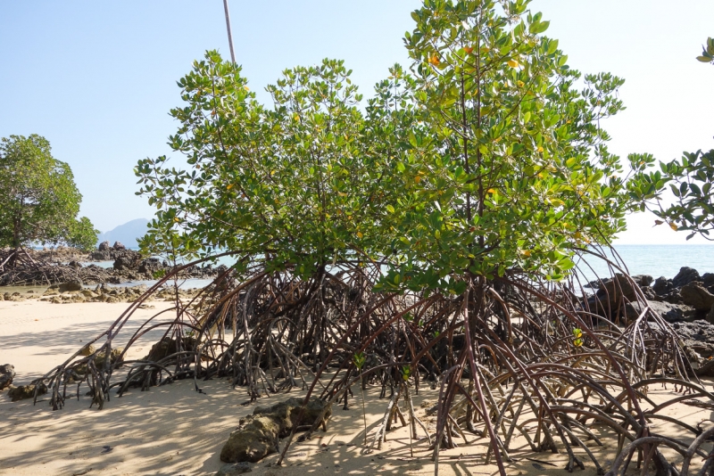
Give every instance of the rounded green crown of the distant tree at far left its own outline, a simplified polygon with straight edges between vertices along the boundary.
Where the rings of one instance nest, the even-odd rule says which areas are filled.
[[[97,231],[77,219],[81,194],[68,164],[52,157],[39,135],[11,135],[0,143],[0,247],[53,243],[88,249]]]

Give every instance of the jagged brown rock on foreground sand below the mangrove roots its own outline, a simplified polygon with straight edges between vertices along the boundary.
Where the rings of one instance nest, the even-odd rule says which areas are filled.
[[[257,463],[278,451],[278,438],[286,437],[295,427],[308,430],[317,424],[326,430],[331,407],[320,398],[310,398],[303,409],[303,398],[288,398],[273,406],[258,406],[241,420],[241,426],[228,437],[220,450],[224,463]]]

